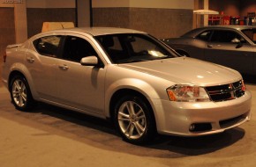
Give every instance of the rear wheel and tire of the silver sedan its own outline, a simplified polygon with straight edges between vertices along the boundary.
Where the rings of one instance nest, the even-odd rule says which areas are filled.
[[[24,76],[14,76],[10,85],[11,102],[20,111],[27,111],[33,105],[33,98]]]

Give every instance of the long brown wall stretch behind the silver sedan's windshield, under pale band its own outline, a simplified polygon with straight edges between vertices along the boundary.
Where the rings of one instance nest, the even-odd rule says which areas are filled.
[[[94,8],[94,26],[132,28],[159,39],[177,37],[192,29],[192,10]]]

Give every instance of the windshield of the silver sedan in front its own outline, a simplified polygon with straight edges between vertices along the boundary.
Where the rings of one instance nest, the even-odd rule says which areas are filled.
[[[160,41],[147,34],[122,33],[96,36],[113,63],[145,62],[177,57]]]

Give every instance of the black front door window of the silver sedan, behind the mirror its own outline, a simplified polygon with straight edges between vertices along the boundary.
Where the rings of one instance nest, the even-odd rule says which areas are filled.
[[[80,62],[83,57],[97,55],[94,47],[87,40],[67,36],[64,41],[63,59],[65,60]]]

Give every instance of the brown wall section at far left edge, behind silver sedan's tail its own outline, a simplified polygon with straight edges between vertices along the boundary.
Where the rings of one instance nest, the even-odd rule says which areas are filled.
[[[14,43],[14,8],[0,8],[0,69],[2,69],[1,63],[3,62],[5,47]]]

